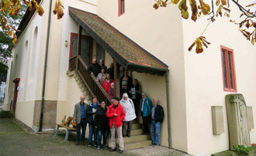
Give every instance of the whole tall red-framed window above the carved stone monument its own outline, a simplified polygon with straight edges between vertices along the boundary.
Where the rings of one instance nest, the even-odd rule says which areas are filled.
[[[223,90],[237,92],[233,49],[229,49],[224,46],[220,46],[220,49],[223,70]]]

